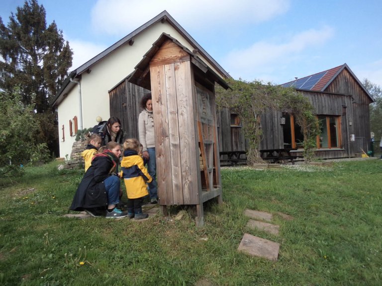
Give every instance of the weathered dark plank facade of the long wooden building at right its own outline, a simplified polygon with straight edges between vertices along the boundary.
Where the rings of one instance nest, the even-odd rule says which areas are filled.
[[[334,70],[334,69],[333,69]],[[322,85],[322,90],[297,89],[298,92],[306,96],[314,107],[317,117],[327,117],[335,119],[336,144],[335,146],[320,146],[320,139],[317,138],[315,155],[317,158],[343,158],[354,157],[357,153],[368,151],[370,142],[370,115],[369,104],[373,102],[370,94],[365,90],[357,77],[345,64],[338,67],[327,78],[327,84]],[[329,80],[331,79],[331,80]],[[220,111],[219,138],[221,151],[234,151],[236,148],[246,150],[244,134],[240,128],[230,126],[230,116],[228,110]],[[286,130],[282,120],[290,120],[286,125],[291,126],[291,133]],[[293,125],[292,115],[287,115],[283,111],[269,110],[261,116],[261,127],[263,139],[260,149],[284,148],[288,144],[286,136],[296,136],[298,127]],[[238,131],[235,133],[232,129]],[[329,129],[329,123],[327,129]],[[333,132],[332,132],[333,133]],[[330,138],[328,139],[330,141]],[[234,143],[235,142],[235,143]],[[288,147],[299,148],[293,151],[294,155],[302,156],[302,149],[299,144]]]

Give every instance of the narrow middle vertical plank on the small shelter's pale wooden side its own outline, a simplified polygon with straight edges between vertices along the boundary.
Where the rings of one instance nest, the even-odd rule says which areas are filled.
[[[171,175],[173,183],[173,205],[183,205],[183,184],[181,169],[181,149],[178,125],[178,102],[177,89],[175,85],[175,65],[165,66],[166,71],[166,95],[167,113],[169,117]]]

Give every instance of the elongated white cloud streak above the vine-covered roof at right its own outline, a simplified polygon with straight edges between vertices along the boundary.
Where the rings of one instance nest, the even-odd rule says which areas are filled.
[[[333,28],[324,26],[300,32],[282,43],[260,41],[230,52],[221,62],[234,78],[253,80],[260,73],[272,74],[281,65],[299,61],[304,51],[325,44],[333,35]]]

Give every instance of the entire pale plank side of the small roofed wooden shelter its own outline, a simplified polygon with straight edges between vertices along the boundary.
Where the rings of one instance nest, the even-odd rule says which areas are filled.
[[[190,65],[150,66],[161,205],[199,204]]]

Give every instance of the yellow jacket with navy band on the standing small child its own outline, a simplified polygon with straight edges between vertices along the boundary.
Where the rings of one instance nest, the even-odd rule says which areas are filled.
[[[121,177],[126,186],[127,198],[138,199],[147,196],[147,183],[153,180],[143,165],[143,159],[136,151],[123,152],[121,161]]]

